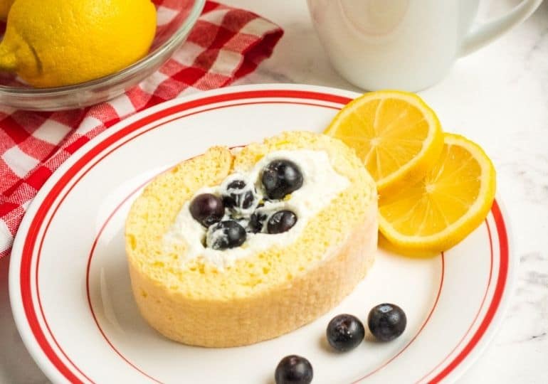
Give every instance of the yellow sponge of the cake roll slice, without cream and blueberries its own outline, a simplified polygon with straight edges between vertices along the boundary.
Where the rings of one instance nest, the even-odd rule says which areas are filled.
[[[334,241],[305,247],[295,244],[246,257],[224,272],[192,263],[179,270],[176,266],[181,260],[177,255],[164,255],[160,245],[162,233],[184,201],[200,186],[220,183],[235,166],[245,169],[274,148],[325,149],[335,169],[350,179],[347,191],[334,198],[330,206],[310,221],[310,230],[302,234],[314,238],[319,231],[316,243],[321,235]],[[233,155],[228,149],[215,147],[204,156],[206,159],[191,159],[159,176],[134,203],[127,219],[126,250],[132,291],[139,311],[154,329],[175,341],[196,346],[256,343],[316,319],[337,305],[363,279],[376,252],[376,191],[362,163],[342,142],[320,134],[288,132],[263,144],[252,144],[243,154]],[[175,182],[170,177],[177,172],[188,173],[189,167],[201,164],[200,161],[212,160],[217,161],[214,171],[189,176],[185,181],[189,188],[179,193],[179,200],[159,195],[162,188],[169,188],[170,181]],[[353,216],[337,219],[330,210],[337,204],[348,203],[348,199],[356,204]],[[159,207],[167,207],[161,218],[155,215]],[[349,208],[344,209],[346,212]],[[329,218],[333,218],[337,228],[321,225],[322,220]],[[319,226],[322,228],[314,230]],[[310,255],[301,255],[302,249],[310,249]],[[265,274],[255,273],[265,268],[268,268]],[[249,277],[242,279],[242,271],[250,271]]]

